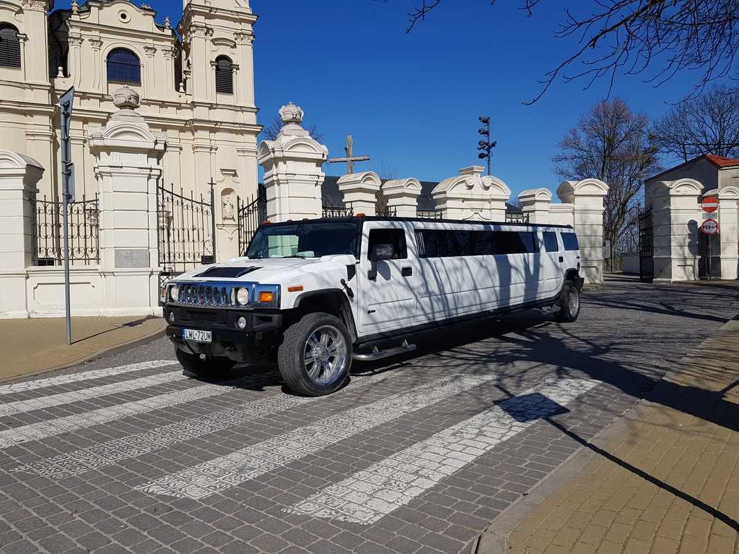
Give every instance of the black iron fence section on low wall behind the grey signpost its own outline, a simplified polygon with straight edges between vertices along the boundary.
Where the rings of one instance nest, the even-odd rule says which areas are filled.
[[[35,201],[35,253],[37,265],[64,263],[64,202],[46,195]],[[98,195],[67,203],[69,263],[100,263],[100,203]]]

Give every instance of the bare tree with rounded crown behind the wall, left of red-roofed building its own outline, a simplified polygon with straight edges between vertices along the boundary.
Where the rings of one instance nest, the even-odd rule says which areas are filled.
[[[632,112],[621,98],[605,100],[568,131],[552,158],[562,179],[595,177],[607,183],[603,237],[612,245],[630,223],[627,214],[638,203],[644,178],[661,169],[648,128],[646,114]]]

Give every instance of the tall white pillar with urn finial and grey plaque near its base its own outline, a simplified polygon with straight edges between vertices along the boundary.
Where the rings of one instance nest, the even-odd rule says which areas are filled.
[[[157,315],[157,182],[163,135],[151,133],[129,87],[113,93],[120,109],[90,136],[99,182],[100,256],[106,315]]]

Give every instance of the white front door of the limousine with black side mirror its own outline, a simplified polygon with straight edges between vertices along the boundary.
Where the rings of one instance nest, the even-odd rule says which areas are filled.
[[[370,253],[375,244],[390,244],[392,259],[376,262],[372,269]],[[412,227],[407,222],[365,222],[357,278],[359,284],[358,329],[361,335],[400,329],[413,323],[416,310],[416,279]]]

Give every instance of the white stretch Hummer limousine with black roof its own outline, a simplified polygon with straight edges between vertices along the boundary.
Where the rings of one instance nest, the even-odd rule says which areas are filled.
[[[194,372],[277,352],[287,386],[335,391],[352,360],[415,348],[421,329],[531,307],[580,310],[570,227],[380,217],[271,224],[245,255],[162,291],[168,336]]]

